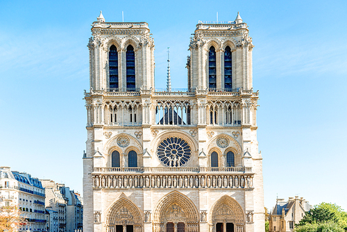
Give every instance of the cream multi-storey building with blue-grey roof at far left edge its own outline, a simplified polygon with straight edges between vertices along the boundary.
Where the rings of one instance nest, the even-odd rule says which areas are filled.
[[[19,231],[46,231],[45,194],[39,179],[0,167],[0,196],[1,206],[17,206],[19,216],[26,220]]]

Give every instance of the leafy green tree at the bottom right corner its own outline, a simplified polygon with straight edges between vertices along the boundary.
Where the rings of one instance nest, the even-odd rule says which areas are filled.
[[[347,231],[347,213],[336,204],[323,202],[305,214],[295,231]]]

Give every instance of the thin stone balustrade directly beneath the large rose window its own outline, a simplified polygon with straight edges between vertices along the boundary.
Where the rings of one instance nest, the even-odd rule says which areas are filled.
[[[94,172],[252,172],[251,167],[94,167]]]

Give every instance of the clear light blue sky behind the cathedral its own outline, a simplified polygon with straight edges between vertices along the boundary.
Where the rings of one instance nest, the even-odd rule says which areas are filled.
[[[186,88],[198,20],[234,20],[253,37],[265,206],[298,194],[347,210],[347,1],[0,0],[0,165],[82,192],[90,24],[148,22],[155,85]]]

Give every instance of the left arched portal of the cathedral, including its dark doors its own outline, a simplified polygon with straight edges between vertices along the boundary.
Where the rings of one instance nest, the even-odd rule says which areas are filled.
[[[113,204],[106,219],[108,232],[142,232],[142,216],[132,201],[121,198]]]

